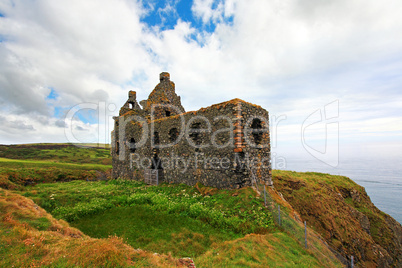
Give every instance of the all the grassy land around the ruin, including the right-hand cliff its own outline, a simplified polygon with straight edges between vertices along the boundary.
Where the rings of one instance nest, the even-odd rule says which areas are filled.
[[[0,266],[341,267],[324,239],[357,267],[401,263],[400,224],[346,177],[274,171],[266,208],[252,188],[108,180],[110,163],[90,144],[0,146]]]

